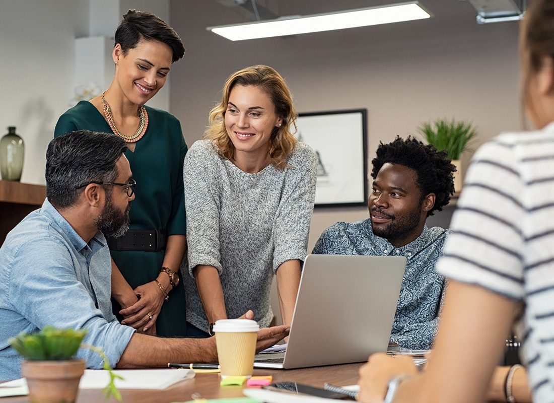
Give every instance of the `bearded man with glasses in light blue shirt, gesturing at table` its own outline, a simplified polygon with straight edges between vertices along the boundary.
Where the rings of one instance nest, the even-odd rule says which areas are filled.
[[[112,313],[105,237],[121,236],[129,227],[136,183],[123,154],[126,147],[118,136],[88,130],[50,141],[47,199],[9,232],[0,248],[0,381],[20,377],[21,358],[8,339],[47,325],[88,329],[85,343],[104,349],[112,367],[217,361],[214,338],[137,334]],[[252,319],[252,311],[243,317]],[[260,330],[258,349],[273,345],[287,331],[284,326]],[[87,368],[103,366],[89,349],[77,355]]]

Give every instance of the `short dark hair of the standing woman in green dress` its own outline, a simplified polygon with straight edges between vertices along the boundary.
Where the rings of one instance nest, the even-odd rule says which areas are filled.
[[[130,9],[123,16],[123,20],[115,31],[115,44],[118,43],[126,54],[129,49],[136,48],[141,39],[159,40],[168,45],[173,52],[172,63],[177,62],[184,55],[184,47],[181,38],[175,29],[167,25],[160,17],[152,13],[145,13]]]

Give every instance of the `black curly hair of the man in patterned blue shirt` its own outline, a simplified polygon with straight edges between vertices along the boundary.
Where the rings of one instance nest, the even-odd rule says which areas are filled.
[[[437,151],[434,146],[425,145],[412,136],[406,140],[397,136],[393,142],[381,142],[377,147],[377,157],[371,161],[373,179],[387,162],[403,165],[416,172],[422,202],[429,193],[435,193],[435,205],[427,212],[428,217],[435,210],[442,211],[450,201],[450,195],[454,193],[456,167],[451,164],[446,151]]]

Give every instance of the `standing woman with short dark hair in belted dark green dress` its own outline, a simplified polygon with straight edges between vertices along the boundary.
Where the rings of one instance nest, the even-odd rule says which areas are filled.
[[[115,32],[115,74],[109,88],[66,111],[55,128],[55,136],[88,129],[126,141],[137,197],[130,230],[108,241],[114,312],[122,323],[160,336],[186,333],[178,271],[186,250],[181,171],[187,145],[175,116],[145,104],[183,54],[173,28],[154,14],[130,10]]]

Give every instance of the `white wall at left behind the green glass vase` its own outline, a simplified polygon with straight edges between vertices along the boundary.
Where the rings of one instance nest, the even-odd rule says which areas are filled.
[[[22,181],[44,183],[45,151],[74,87],[74,38],[88,32],[88,1],[0,0],[0,134],[25,141]]]

